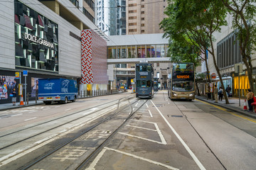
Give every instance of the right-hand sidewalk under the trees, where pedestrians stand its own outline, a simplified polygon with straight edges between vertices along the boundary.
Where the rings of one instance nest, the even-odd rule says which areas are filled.
[[[218,101],[218,103],[214,103],[214,101],[211,100],[211,99],[207,100],[206,96],[196,96],[196,98],[201,100],[201,101],[206,101],[206,102],[211,103],[211,104],[216,105],[216,106],[227,108],[230,111],[235,111],[235,112],[241,113],[243,115],[247,115],[251,118],[256,118],[256,113],[254,111],[253,112],[244,111],[244,109],[243,109],[244,108],[244,103],[245,103],[244,98],[240,99],[240,106],[239,106],[239,98],[233,98],[233,97],[228,98],[229,104],[225,103],[225,98],[224,97],[223,97],[223,101]],[[246,106],[247,106],[247,109],[249,110],[247,101],[246,101]]]

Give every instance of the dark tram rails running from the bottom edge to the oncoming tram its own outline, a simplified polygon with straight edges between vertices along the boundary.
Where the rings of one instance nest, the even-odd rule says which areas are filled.
[[[129,100],[128,100],[129,101]],[[146,100],[148,101],[148,100]],[[42,154],[40,157],[37,157],[36,159],[33,159],[32,162],[29,162],[26,165],[23,165],[21,167],[18,167],[19,170],[25,170],[25,169],[30,169],[31,167],[33,168],[33,166],[35,166],[36,164],[38,164],[38,162],[43,161],[44,159],[47,159],[48,157],[50,157],[50,155],[54,154],[55,152],[58,152],[60,149],[63,149],[64,147],[66,147],[67,145],[70,145],[71,142],[73,142],[74,140],[78,139],[79,137],[86,135],[88,132],[91,132],[92,130],[95,130],[95,128],[97,128],[99,125],[102,125],[103,123],[107,123],[108,120],[112,120],[114,119],[114,117],[118,114],[122,114],[123,111],[125,111],[125,109],[127,108],[131,108],[131,111],[129,113],[129,115],[124,118],[123,120],[119,120],[122,121],[122,123],[120,125],[118,125],[118,127],[104,140],[102,141],[99,145],[97,145],[97,147],[95,147],[95,149],[91,152],[91,154],[86,157],[86,159],[84,159],[82,162],[80,162],[80,164],[74,168],[74,169],[82,169],[85,168],[85,165],[87,164],[87,162],[90,162],[90,160],[95,157],[96,154],[98,154],[101,149],[107,144],[107,142],[110,141],[110,139],[112,139],[112,137],[114,137],[114,135],[117,134],[117,132],[127,123],[127,121],[130,120],[130,118],[132,118],[132,116],[134,115],[134,113],[137,113],[137,111],[139,111],[139,108],[141,108],[142,106],[144,106],[144,104],[146,103],[146,101],[144,101],[142,103],[141,106],[139,106],[137,109],[133,109],[132,105],[134,105],[134,103],[137,103],[136,101],[133,101],[132,103],[129,102],[129,105],[127,106],[123,106],[123,108],[121,108],[119,111],[114,111],[114,113],[111,113],[110,115],[107,116],[107,118],[103,118],[102,120],[100,120],[99,122],[90,125],[89,127],[87,127],[85,130],[82,130],[81,133],[79,133],[78,135],[75,135],[74,137],[71,137],[68,141],[63,142],[61,145],[58,145],[57,147],[51,149],[49,152],[47,152],[46,154]],[[119,106],[117,106],[119,107]],[[134,110],[134,111],[133,111]]]

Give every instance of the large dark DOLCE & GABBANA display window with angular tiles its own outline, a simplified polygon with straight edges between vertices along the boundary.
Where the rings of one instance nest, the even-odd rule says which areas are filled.
[[[58,25],[15,0],[16,67],[58,72]]]

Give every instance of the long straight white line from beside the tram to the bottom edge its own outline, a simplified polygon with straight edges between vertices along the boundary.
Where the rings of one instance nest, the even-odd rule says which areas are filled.
[[[154,104],[154,102],[152,100],[150,100],[151,103],[154,105],[154,108],[156,108],[156,105]],[[206,168],[203,166],[203,164],[201,164],[201,162],[198,160],[198,158],[196,157],[196,155],[191,151],[191,149],[188,147],[188,145],[186,145],[186,143],[182,140],[182,138],[180,137],[180,135],[178,135],[178,133],[176,132],[176,130],[174,130],[174,128],[171,126],[171,124],[168,122],[168,120],[166,120],[166,118],[164,117],[164,115],[161,113],[161,111],[159,111],[158,108],[156,108],[156,110],[159,112],[159,114],[161,115],[161,117],[164,119],[164,121],[166,122],[167,125],[169,125],[169,128],[171,128],[171,130],[174,132],[174,134],[176,135],[176,137],[178,138],[178,140],[181,142],[181,144],[183,145],[183,147],[185,147],[185,149],[187,150],[187,152],[191,155],[191,157],[193,158],[193,160],[196,162],[196,164],[198,165],[198,167],[202,170],[206,170]]]

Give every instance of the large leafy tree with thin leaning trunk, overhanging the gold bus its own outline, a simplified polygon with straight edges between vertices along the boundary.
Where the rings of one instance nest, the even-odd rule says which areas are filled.
[[[202,52],[207,50],[213,57],[213,64],[224,89],[223,79],[215,59],[213,33],[220,32],[220,27],[227,25],[225,21],[227,9],[221,1],[212,0],[169,0],[169,6],[165,13],[172,19],[169,22],[162,21],[165,25],[169,24],[169,26],[166,25],[166,33],[169,35],[171,33],[170,37],[176,40],[180,40],[181,34],[186,34],[191,42],[198,44]],[[170,26],[171,24],[175,26]],[[224,96],[225,102],[228,103],[225,91]]]

